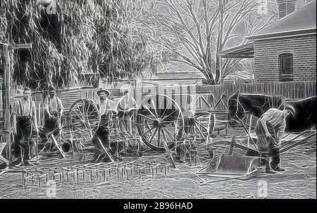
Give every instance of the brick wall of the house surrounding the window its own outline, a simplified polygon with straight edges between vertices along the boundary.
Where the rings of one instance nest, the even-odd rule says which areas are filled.
[[[316,80],[316,34],[254,41],[254,79],[279,81],[278,54],[293,53],[294,81]]]

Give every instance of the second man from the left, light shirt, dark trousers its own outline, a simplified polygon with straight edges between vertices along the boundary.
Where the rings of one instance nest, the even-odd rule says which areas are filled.
[[[46,94],[44,97],[43,106],[44,127],[40,136],[42,142],[46,144],[50,134],[56,137],[61,131],[61,115],[63,114],[63,104],[56,96],[56,91],[53,86],[49,86],[49,94]],[[51,150],[51,144],[49,150]]]

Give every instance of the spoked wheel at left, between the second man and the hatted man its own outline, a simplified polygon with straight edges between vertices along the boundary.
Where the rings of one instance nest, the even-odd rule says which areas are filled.
[[[68,125],[70,131],[85,141],[91,141],[94,131],[100,121],[97,105],[87,99],[75,101],[68,111]]]

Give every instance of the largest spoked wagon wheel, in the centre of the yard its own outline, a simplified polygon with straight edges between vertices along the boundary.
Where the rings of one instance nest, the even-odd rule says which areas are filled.
[[[152,150],[173,148],[182,140],[184,118],[182,110],[168,96],[148,96],[137,110],[137,132]]]

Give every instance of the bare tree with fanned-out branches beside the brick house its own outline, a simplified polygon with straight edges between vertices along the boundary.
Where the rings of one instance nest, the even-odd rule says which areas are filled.
[[[209,84],[218,84],[224,77],[219,53],[237,37],[233,33],[237,25],[259,6],[254,0],[161,0],[159,4],[164,8],[153,14],[160,29],[159,43],[178,56],[176,61],[203,73]],[[225,60],[222,67],[232,63],[237,60]]]

